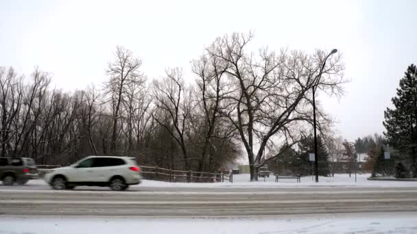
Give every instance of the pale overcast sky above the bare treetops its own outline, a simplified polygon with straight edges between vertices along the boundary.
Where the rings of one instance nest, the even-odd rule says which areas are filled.
[[[338,49],[350,79],[342,99],[319,99],[353,140],[382,133],[383,111],[417,63],[417,1],[0,1],[0,66],[34,66],[64,90],[101,86],[117,44],[149,77],[202,54],[217,36],[254,31],[252,47]],[[189,73],[188,73],[189,74]],[[191,75],[186,79],[193,80]]]

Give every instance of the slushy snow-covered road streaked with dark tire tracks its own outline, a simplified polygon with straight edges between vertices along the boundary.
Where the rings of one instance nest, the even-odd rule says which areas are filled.
[[[416,187],[158,189],[143,192],[0,190],[0,211],[3,215],[191,218],[417,211]]]

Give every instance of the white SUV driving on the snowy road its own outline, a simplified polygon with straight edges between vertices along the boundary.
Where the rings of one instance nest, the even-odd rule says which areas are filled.
[[[109,186],[120,191],[141,183],[139,170],[132,157],[89,156],[71,166],[54,169],[44,179],[55,190],[84,185]]]

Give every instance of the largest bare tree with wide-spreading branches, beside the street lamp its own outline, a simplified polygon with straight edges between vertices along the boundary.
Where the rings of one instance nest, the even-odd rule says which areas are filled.
[[[302,51],[275,53],[260,49],[256,56],[245,51],[252,38],[252,34],[217,38],[207,51],[222,62],[233,87],[230,90],[235,90],[222,103],[221,113],[239,132],[251,180],[257,180],[265,148],[275,145],[278,149],[267,159],[270,160],[286,149],[277,147],[277,143],[291,147],[300,142],[311,123],[309,92],[315,86],[339,92],[343,66],[340,57],[332,57],[319,82],[323,51],[307,55]],[[259,148],[257,152],[255,146]]]

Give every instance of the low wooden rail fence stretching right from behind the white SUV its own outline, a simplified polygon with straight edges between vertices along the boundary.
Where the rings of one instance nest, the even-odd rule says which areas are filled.
[[[171,170],[157,166],[140,166],[145,179],[169,182],[224,182],[233,183],[233,173],[193,172],[191,170]]]

